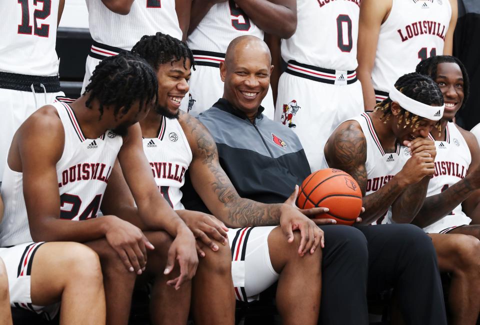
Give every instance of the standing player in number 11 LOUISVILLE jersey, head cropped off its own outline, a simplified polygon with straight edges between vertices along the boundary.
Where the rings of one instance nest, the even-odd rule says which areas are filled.
[[[429,56],[452,52],[457,0],[362,0],[358,79],[366,111]]]

